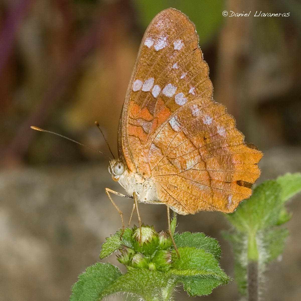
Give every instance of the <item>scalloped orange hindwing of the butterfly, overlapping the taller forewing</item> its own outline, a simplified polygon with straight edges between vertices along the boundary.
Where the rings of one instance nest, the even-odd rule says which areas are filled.
[[[210,109],[196,113],[197,108],[206,107],[206,102],[211,102]],[[209,98],[185,104],[170,121],[148,151],[160,198],[182,214],[233,212],[252,194],[240,183],[254,183],[259,177],[256,163],[261,152],[244,144],[234,119]]]

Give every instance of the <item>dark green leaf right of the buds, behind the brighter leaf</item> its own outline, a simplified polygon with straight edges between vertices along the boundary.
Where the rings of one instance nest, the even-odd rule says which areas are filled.
[[[219,260],[221,255],[221,247],[217,240],[206,236],[204,233],[183,232],[182,234],[175,233],[175,244],[180,247],[195,247],[196,249],[203,249],[207,253],[213,254],[216,260]]]

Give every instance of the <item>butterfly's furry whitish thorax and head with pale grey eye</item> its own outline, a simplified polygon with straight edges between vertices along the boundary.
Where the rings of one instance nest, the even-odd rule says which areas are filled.
[[[139,172],[132,172],[122,161],[111,160],[108,171],[129,195],[135,192],[140,203],[161,203],[155,182],[144,178]]]

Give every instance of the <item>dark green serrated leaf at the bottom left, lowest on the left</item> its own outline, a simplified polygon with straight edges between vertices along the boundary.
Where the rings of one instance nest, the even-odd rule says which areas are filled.
[[[79,275],[72,287],[70,301],[94,301],[99,294],[121,275],[120,270],[110,263],[97,262]]]

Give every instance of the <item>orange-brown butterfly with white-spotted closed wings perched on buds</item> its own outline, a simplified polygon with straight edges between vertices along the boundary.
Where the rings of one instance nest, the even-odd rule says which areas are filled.
[[[142,39],[119,121],[118,157],[108,170],[129,197],[182,215],[233,212],[260,175],[262,153],[213,101],[195,26],[173,8],[157,14]]]

